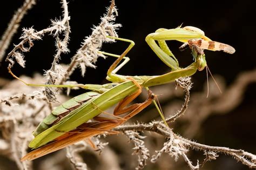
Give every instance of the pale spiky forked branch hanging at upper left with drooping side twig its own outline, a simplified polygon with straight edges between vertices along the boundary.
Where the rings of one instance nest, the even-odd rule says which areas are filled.
[[[6,61],[9,62],[8,69],[10,70],[12,66],[14,66],[15,61],[21,65],[22,67],[25,67],[25,60],[23,52],[29,52],[31,47],[33,46],[33,40],[41,40],[45,33],[50,33],[50,35],[53,35],[53,37],[56,37],[56,47],[57,47],[57,53],[53,59],[51,69],[46,71],[45,77],[47,79],[46,84],[55,84],[58,83],[58,79],[61,79],[64,75],[63,69],[60,65],[57,65],[57,61],[60,58],[61,53],[69,52],[69,49],[67,47],[68,40],[69,40],[69,33],[70,33],[70,26],[69,26],[69,19],[68,16],[68,4],[66,0],[62,1],[63,4],[63,19],[62,21],[58,21],[56,19],[52,22],[52,26],[49,28],[43,29],[41,31],[36,31],[32,27],[29,29],[23,28],[23,34],[21,36],[22,41],[15,45],[14,49],[9,52],[8,56],[6,57]],[[64,39],[60,40],[59,34],[64,32]],[[28,47],[25,47],[25,45],[28,45]],[[53,91],[49,87],[45,88],[46,90],[46,97],[49,101],[57,101],[56,98],[56,91]]]

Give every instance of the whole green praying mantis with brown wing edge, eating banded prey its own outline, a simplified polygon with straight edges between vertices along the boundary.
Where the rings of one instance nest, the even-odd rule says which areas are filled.
[[[129,58],[126,54],[134,46],[134,42],[129,39],[109,37],[116,40],[129,42],[130,45],[122,55],[112,55],[102,52],[105,55],[118,57],[107,71],[106,79],[112,83],[104,85],[96,84],[76,84],[76,85],[36,85],[28,84],[19,79],[9,70],[15,78],[21,80],[29,86],[50,86],[50,87],[82,87],[91,90],[84,94],[72,98],[58,106],[46,117],[33,132],[35,138],[30,142],[29,147],[36,149],[26,154],[22,161],[33,160],[45,154],[57,151],[69,146],[77,141],[88,139],[93,135],[112,132],[112,128],[124,123],[154,101],[155,95],[149,90],[150,86],[170,83],[181,77],[192,76],[197,70],[204,70],[206,65],[204,49],[213,51],[225,51],[234,53],[232,46],[213,42],[206,37],[204,32],[193,26],[185,26],[176,29],[158,29],[146,37],[146,42],[156,55],[171,68],[171,71],[159,76],[123,76],[116,72],[125,65]],[[166,44],[166,40],[178,40],[184,43],[180,50],[190,47],[194,62],[185,68],[179,67],[178,60]],[[158,42],[158,44],[156,43]],[[123,63],[120,63],[124,59]],[[149,98],[143,103],[127,106],[142,92],[145,87],[149,93]],[[115,119],[99,117],[107,108],[118,104],[114,111]],[[156,104],[155,104],[156,105]],[[157,106],[157,105],[156,105]],[[157,107],[158,108],[158,107]],[[159,111],[159,108],[158,108]],[[118,115],[127,113],[123,118]],[[160,111],[159,111],[160,113]],[[95,119],[96,122],[88,123],[88,120]]]

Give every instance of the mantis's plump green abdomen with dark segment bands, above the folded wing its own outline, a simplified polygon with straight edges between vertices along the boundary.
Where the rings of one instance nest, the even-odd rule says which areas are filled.
[[[71,111],[75,110],[82,104],[89,103],[91,99],[97,97],[99,93],[97,92],[87,92],[80,94],[79,96],[73,97],[72,99],[65,101],[62,105],[56,107],[51,114],[44,118],[44,120],[38,125],[33,135],[36,137],[38,134],[47,130],[52,125],[56,124],[60,119],[65,117]]]

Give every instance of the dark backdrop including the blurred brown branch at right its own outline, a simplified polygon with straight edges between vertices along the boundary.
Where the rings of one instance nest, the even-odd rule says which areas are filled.
[[[255,8],[253,1],[118,1],[116,6],[119,16],[116,23],[122,24],[117,31],[119,37],[128,38],[136,43],[136,46],[129,52],[130,62],[120,70],[119,74],[124,75],[157,75],[169,72],[145,42],[145,37],[159,28],[172,29],[183,24],[183,26],[196,26],[204,30],[207,37],[217,42],[232,45],[236,52],[229,55],[224,52],[206,51],[207,65],[217,83],[223,91],[222,94],[210,80],[210,96],[206,98],[206,71],[197,72],[192,76],[194,83],[191,90],[191,104],[188,106],[187,115],[173,125],[174,131],[186,138],[194,139],[201,144],[212,146],[226,146],[256,154],[256,88],[255,88]],[[0,32],[6,29],[15,10],[21,6],[23,1],[5,1],[0,6]],[[109,1],[69,1],[69,12],[71,16],[71,35],[69,49],[70,53],[63,55],[60,62],[69,63],[70,58],[75,55],[80,43],[85,36],[91,34],[93,25],[100,23],[100,17],[106,12]],[[28,14],[21,22],[21,27],[14,36],[12,43],[19,42],[22,28],[33,26],[41,30],[50,25],[50,19],[55,19],[62,13],[59,1],[38,1],[28,11]],[[44,73],[50,68],[52,56],[55,53],[54,39],[45,36],[43,40],[36,41],[29,53],[25,53],[26,68],[15,65],[13,71],[17,76],[26,75],[32,77],[35,73]],[[180,52],[179,42],[170,42],[170,49],[178,58],[180,66],[187,66],[192,62],[190,50]],[[120,54],[127,44],[123,42],[104,44],[103,51]],[[7,53],[13,46],[10,46]],[[104,84],[106,71],[113,63],[113,58],[99,58],[96,63],[97,69],[87,69],[85,77],[80,76],[77,70],[70,80],[78,83]],[[7,63],[4,60],[0,65],[0,76],[4,85],[5,80],[11,80],[8,73]],[[253,71],[254,70],[254,71]],[[164,85],[152,89],[154,93],[163,94],[160,102],[164,113],[174,114],[181,107],[183,93],[174,91],[174,85]],[[81,91],[71,93],[76,96]],[[143,97],[140,97],[142,100]],[[226,104],[227,103],[227,104]],[[200,107],[204,109],[200,109]],[[198,117],[200,119],[198,119]],[[147,109],[147,113],[141,113],[133,121],[149,122],[159,119],[153,106]],[[128,139],[120,139],[121,136],[110,137],[110,146],[114,141],[122,140],[127,145]],[[159,150],[164,142],[161,137],[147,138],[147,143],[152,151]],[[113,141],[113,142],[111,142]],[[156,146],[156,148],[153,148]],[[132,148],[132,145],[129,146]],[[128,147],[128,148],[129,148]],[[136,167],[136,156],[132,158],[131,149],[120,151],[114,148],[116,154],[122,158],[120,167],[123,169],[134,169]],[[103,150],[104,152],[104,150]],[[153,152],[152,152],[153,153]],[[85,153],[86,155],[86,153]],[[191,152],[189,157],[196,163],[196,160],[203,160],[203,153]],[[92,155],[87,154],[87,157]],[[1,158],[0,160],[5,160]],[[85,158],[86,160],[86,158]],[[88,161],[88,160],[87,160]],[[131,161],[131,162],[130,162]],[[3,161],[1,161],[3,162]],[[92,169],[97,165],[90,164]],[[6,168],[11,161],[0,164],[0,169]],[[148,163],[145,169],[188,169],[183,160],[174,162],[168,155],[158,160],[156,165]],[[12,166],[15,168],[15,166]],[[69,168],[66,168],[69,169]],[[248,169],[240,162],[235,161],[226,155],[220,155],[217,160],[207,162],[201,169]]]

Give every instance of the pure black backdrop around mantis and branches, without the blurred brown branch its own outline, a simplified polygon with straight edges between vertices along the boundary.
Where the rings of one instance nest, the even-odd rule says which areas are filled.
[[[116,23],[122,24],[118,30],[119,37],[134,40],[136,46],[129,52],[130,62],[119,73],[125,75],[153,75],[163,74],[169,70],[147,46],[145,37],[158,28],[172,29],[180,24],[191,25],[204,30],[207,37],[218,42],[232,45],[236,52],[229,55],[224,52],[205,51],[207,64],[213,74],[220,74],[231,84],[240,72],[255,69],[255,6],[253,1],[123,1],[117,0],[119,11]],[[10,21],[14,11],[21,6],[23,1],[4,1],[0,6],[0,32],[3,32]],[[100,17],[105,13],[105,7],[109,1],[69,1],[71,38],[69,43],[70,53],[63,55],[61,62],[69,63],[70,58],[76,53],[80,43],[85,36],[91,33],[92,25],[100,23]],[[21,28],[29,28],[33,25],[36,30],[41,30],[50,25],[50,19],[59,18],[62,13],[59,1],[38,1],[28,11],[21,22]],[[14,37],[12,43],[19,42],[21,28]],[[171,50],[176,56],[191,56],[189,50],[179,52],[181,43],[171,42]],[[127,46],[126,43],[104,44],[103,50],[112,53],[122,53]],[[10,46],[7,53],[12,49]],[[42,41],[35,42],[31,52],[25,54],[26,68],[22,69],[15,65],[14,72],[18,76],[33,73],[43,73],[50,68],[52,56],[55,53],[54,39],[45,36]],[[192,62],[192,57],[178,58],[181,66],[187,66]],[[87,69],[85,77],[76,71],[71,80],[79,83],[106,83],[105,73],[113,59],[99,58],[97,70]],[[0,67],[0,76],[11,79],[7,72],[7,64],[3,61]],[[193,75],[193,91],[200,91],[206,73],[197,72]],[[75,94],[74,94],[75,95]],[[242,103],[232,113],[221,118],[213,117],[213,120],[224,119],[234,121],[234,126],[227,127],[225,133],[233,135],[235,143],[230,141],[230,147],[242,148],[248,152],[256,153],[255,148],[255,111],[256,111],[255,84],[248,86]],[[242,115],[242,119],[241,119]],[[211,120],[211,121],[213,121]],[[253,120],[253,121],[252,121]],[[210,121],[210,120],[209,120]],[[204,128],[209,128],[205,125]],[[224,133],[224,134],[221,134]],[[207,134],[206,134],[207,135]],[[210,134],[208,134],[210,135]],[[207,138],[207,137],[205,137]],[[225,146],[227,143],[225,143]],[[217,141],[212,145],[224,145]],[[218,162],[218,160],[217,160]],[[218,162],[221,164],[221,162]],[[240,163],[239,163],[240,164]],[[238,165],[238,164],[237,164]],[[240,166],[240,165],[239,165]],[[218,167],[218,166],[217,166]],[[220,167],[219,167],[220,168]],[[240,166],[238,169],[246,169]]]

